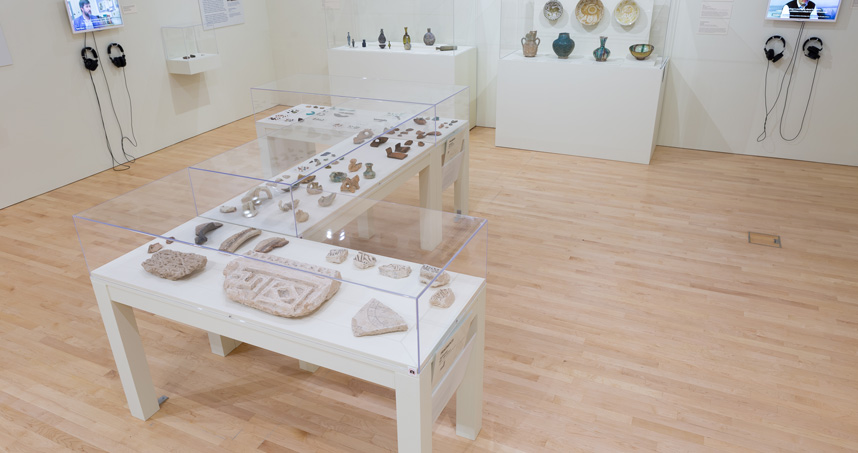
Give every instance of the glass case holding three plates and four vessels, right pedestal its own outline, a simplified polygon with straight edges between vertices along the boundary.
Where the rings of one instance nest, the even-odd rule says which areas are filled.
[[[670,55],[672,5],[673,0],[502,0],[500,58],[660,67]],[[594,52],[603,37],[610,53],[600,52],[604,57],[597,61]]]

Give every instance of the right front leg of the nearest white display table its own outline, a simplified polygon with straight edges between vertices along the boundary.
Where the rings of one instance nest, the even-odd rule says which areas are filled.
[[[429,373],[396,375],[396,437],[399,451],[432,451],[432,379]]]

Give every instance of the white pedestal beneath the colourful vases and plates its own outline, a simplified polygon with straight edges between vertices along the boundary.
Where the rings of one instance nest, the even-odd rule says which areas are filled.
[[[666,67],[627,55],[509,55],[498,65],[495,144],[649,164]]]

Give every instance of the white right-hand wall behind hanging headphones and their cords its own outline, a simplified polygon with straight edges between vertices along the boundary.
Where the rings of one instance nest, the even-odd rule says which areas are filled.
[[[659,144],[735,154],[858,165],[858,20],[852,0],[843,0],[835,24],[807,24],[796,43],[800,24],[764,20],[766,2],[735,2],[729,33],[700,35],[697,26],[702,0],[676,2],[678,9],[673,57],[668,74]],[[783,98],[769,119],[768,138],[757,143],[763,130],[766,59],[763,46],[771,35],[788,42],[786,56],[772,65],[769,103],[789,58],[801,52],[807,37],[825,42],[816,87],[804,132],[794,142],[780,137]],[[799,129],[807,103],[815,63],[798,56],[790,93],[784,135]]]

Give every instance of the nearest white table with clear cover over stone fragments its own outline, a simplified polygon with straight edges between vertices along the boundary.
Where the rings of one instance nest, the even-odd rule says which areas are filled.
[[[159,409],[138,309],[209,332],[220,355],[247,342],[394,388],[400,451],[431,451],[453,393],[457,432],[475,438],[485,220],[307,186],[191,167],[74,217],[132,414]],[[321,211],[355,206],[366,217]],[[296,235],[308,213],[319,239]]]

